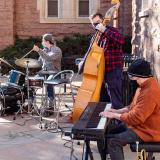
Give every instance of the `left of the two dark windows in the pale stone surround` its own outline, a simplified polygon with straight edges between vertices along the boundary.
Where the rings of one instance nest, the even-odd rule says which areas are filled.
[[[48,0],[47,12],[48,17],[58,17],[58,0]]]

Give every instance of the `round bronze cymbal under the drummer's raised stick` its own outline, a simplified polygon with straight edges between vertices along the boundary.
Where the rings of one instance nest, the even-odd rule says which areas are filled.
[[[28,64],[28,68],[39,68],[39,67],[41,67],[38,60],[32,59],[32,58],[17,59],[15,61],[15,64],[17,66],[24,67],[24,68],[27,68],[27,64]]]

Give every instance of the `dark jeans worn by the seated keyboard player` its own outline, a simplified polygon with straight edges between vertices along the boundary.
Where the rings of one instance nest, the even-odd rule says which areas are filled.
[[[111,160],[124,160],[123,146],[136,141],[142,142],[133,130],[120,121],[111,120],[105,139],[97,141],[101,160],[106,160],[106,154],[110,154]]]

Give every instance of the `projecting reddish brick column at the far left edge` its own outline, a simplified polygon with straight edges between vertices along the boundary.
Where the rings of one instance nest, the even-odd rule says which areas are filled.
[[[14,0],[0,0],[0,50],[14,43]]]

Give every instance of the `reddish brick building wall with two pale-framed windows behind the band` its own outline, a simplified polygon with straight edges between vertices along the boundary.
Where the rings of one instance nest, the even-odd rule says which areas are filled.
[[[131,35],[132,3],[128,1],[122,0],[118,14],[118,27],[125,35]],[[111,0],[1,0],[0,49],[14,44],[16,36],[88,34],[88,16],[97,11],[105,14],[110,7]]]

